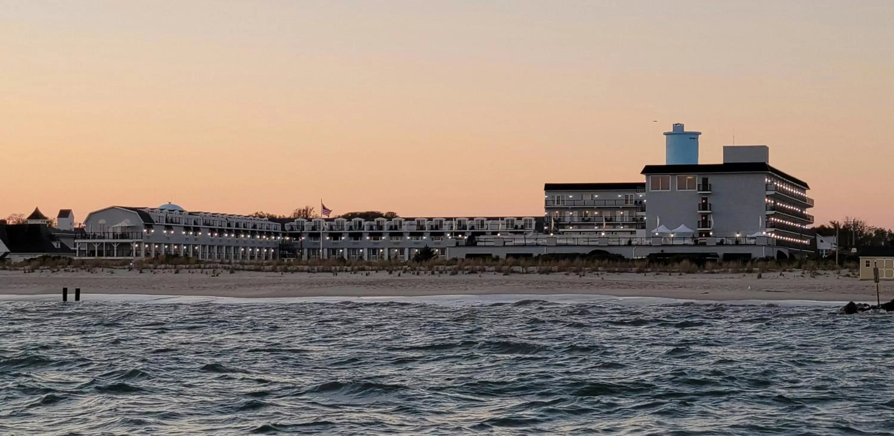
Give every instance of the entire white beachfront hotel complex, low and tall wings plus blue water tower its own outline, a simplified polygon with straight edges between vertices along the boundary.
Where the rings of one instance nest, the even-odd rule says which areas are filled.
[[[665,133],[665,164],[645,165],[642,181],[546,183],[541,216],[269,220],[172,204],[111,206],[87,216],[75,252],[223,262],[409,260],[423,247],[445,258],[808,253],[814,200],[807,183],[772,167],[765,146],[723,147],[721,164],[699,164],[699,135],[674,124]]]

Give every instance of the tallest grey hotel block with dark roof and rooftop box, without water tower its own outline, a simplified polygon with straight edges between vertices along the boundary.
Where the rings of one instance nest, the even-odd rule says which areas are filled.
[[[643,174],[649,229],[685,225],[698,239],[765,235],[780,247],[809,247],[810,187],[772,167],[767,147],[723,147],[722,164],[646,165]]]

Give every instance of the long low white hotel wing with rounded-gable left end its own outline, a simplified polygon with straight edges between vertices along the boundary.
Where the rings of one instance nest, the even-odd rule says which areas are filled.
[[[224,262],[277,258],[409,260],[423,247],[439,256],[479,237],[534,235],[543,219],[519,217],[315,218],[270,220],[188,212],[178,205],[111,206],[88,214],[75,239],[79,257],[183,256]]]

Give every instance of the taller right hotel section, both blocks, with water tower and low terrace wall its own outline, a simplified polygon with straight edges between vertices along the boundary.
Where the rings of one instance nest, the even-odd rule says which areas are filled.
[[[664,135],[665,164],[645,165],[645,182],[547,183],[539,239],[488,237],[454,253],[742,259],[809,251],[809,186],[771,166],[768,147],[723,147],[721,164],[700,164],[700,132],[674,124]]]

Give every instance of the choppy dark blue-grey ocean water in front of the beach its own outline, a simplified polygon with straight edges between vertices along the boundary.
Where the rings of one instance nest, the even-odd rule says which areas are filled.
[[[892,434],[894,317],[835,309],[6,300],[0,434]]]

